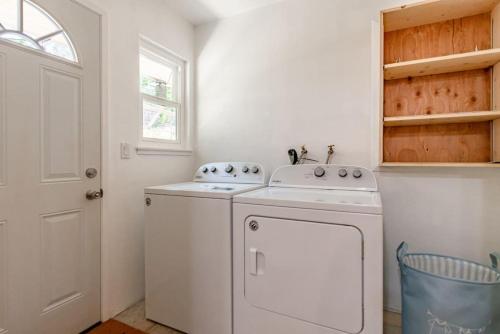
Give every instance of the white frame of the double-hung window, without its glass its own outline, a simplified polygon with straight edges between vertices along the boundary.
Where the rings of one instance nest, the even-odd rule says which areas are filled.
[[[158,96],[143,93],[141,89],[141,64],[140,57],[144,56],[152,61],[173,69],[176,72],[177,83],[174,82],[174,97],[176,101],[170,101],[167,98],[163,99]],[[189,124],[188,124],[188,63],[183,58],[177,56],[165,47],[155,43],[145,37],[140,38],[139,45],[139,145],[137,147],[138,154],[169,154],[169,153],[190,153],[189,148]],[[175,73],[174,72],[174,73]],[[149,138],[144,136],[144,102],[152,102],[154,104],[176,109],[176,140],[167,140],[161,138]]]

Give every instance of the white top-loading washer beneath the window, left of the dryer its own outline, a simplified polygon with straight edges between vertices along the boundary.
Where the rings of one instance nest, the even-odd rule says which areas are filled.
[[[190,334],[232,333],[232,198],[264,183],[261,165],[231,162],[145,189],[148,319]]]

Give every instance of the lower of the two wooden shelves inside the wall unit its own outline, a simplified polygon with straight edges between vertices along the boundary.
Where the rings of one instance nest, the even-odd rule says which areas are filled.
[[[384,117],[384,126],[413,126],[488,122],[500,119],[500,111],[474,111],[450,114]]]

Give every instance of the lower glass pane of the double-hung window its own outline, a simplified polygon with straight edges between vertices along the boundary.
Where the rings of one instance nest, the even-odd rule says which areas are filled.
[[[177,108],[143,100],[143,137],[177,140]]]

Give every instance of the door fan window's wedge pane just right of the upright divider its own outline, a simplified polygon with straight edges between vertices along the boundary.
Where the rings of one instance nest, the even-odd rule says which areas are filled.
[[[49,17],[45,12],[31,4],[24,1],[24,33],[33,39],[40,38],[61,28]]]

